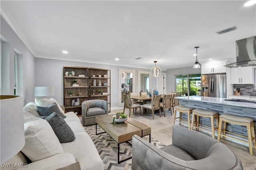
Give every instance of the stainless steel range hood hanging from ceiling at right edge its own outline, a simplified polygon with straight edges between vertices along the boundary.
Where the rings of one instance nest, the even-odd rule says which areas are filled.
[[[236,41],[236,63],[224,65],[230,68],[256,66],[256,36]]]

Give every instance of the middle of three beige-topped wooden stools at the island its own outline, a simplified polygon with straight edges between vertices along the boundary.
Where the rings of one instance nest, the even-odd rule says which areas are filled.
[[[195,116],[196,116],[196,121],[195,121]],[[200,117],[208,117],[208,118],[210,118],[211,126],[200,124],[199,123],[199,118]],[[215,118],[215,121],[216,121],[216,127],[214,127],[214,118]],[[212,132],[212,138],[213,139],[215,138],[214,130],[216,129],[218,131],[218,125],[219,125],[219,123],[218,123],[218,112],[216,112],[216,111],[208,111],[208,110],[203,110],[203,109],[194,109],[192,111],[192,122],[193,123],[192,123],[191,130],[193,130],[193,127],[196,127],[196,130],[204,129],[206,131]],[[203,128],[203,127],[199,127],[199,125],[203,126],[203,127],[208,127],[211,130]]]

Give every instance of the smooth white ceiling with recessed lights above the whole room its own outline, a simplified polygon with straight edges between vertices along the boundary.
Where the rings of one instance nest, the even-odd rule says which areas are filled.
[[[35,57],[138,68],[158,61],[166,70],[193,66],[196,46],[199,62],[235,58],[235,41],[256,35],[256,5],[245,2],[1,0],[1,15]]]

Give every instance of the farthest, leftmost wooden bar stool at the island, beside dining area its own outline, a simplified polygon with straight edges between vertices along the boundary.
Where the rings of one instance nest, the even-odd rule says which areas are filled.
[[[185,107],[185,106],[175,106],[174,107],[174,111],[173,111],[173,115],[174,115],[174,118],[173,118],[173,124],[175,124],[175,121],[179,122],[179,123],[183,123],[183,124],[186,124],[188,125],[188,129],[190,129],[190,113],[192,113],[192,110],[194,108],[192,107]],[[176,117],[176,111],[179,112],[179,117]],[[181,113],[187,113],[188,114],[188,120],[185,120],[185,119],[182,119],[181,118]],[[176,120],[178,119],[178,120]],[[188,121],[188,123],[185,123],[185,122],[182,122],[182,121]]]

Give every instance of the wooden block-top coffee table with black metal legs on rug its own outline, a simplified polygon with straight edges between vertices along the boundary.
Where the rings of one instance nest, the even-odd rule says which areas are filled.
[[[133,135],[138,135],[144,137],[149,135],[149,142],[151,142],[151,127],[136,121],[128,117],[128,120],[124,123],[114,123],[110,124],[113,120],[113,115],[98,116],[96,117],[96,135],[102,133],[108,133],[108,135],[116,141],[118,145],[118,164],[129,160],[132,158],[126,158],[124,160],[119,160],[119,149],[120,144],[132,140]],[[105,132],[97,133],[97,125],[99,125]],[[129,143],[130,144],[130,143]]]

